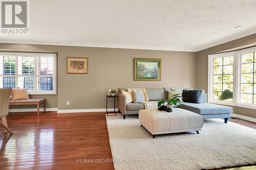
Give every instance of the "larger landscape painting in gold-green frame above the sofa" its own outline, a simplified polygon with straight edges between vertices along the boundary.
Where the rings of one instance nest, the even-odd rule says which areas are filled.
[[[134,80],[161,80],[161,59],[134,59]]]

